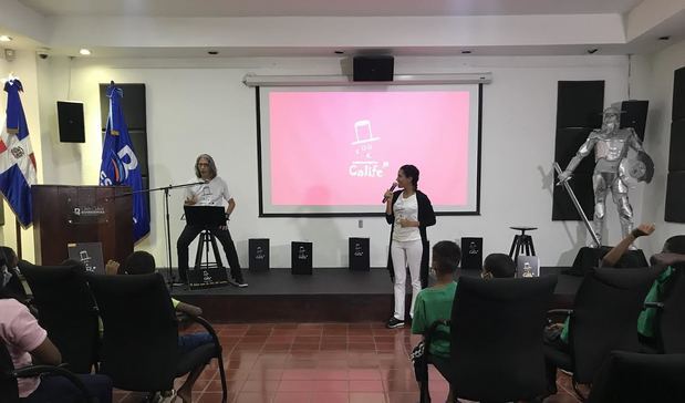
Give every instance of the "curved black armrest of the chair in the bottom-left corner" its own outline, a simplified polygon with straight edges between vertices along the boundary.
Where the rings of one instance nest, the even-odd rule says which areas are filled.
[[[0,339],[0,402],[2,403],[19,403],[19,386],[17,380],[19,378],[33,378],[44,374],[64,376],[71,381],[81,392],[83,392],[83,401],[92,403],[85,385],[72,372],[62,366],[52,365],[29,365],[20,369],[14,369],[12,358]]]

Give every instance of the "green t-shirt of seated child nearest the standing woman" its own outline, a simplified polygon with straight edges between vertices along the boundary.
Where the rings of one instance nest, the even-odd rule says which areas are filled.
[[[456,291],[456,282],[422,290],[418,296],[416,296],[416,302],[414,304],[412,333],[424,334],[436,320],[449,320],[452,318],[452,303],[455,299]],[[437,330],[449,335],[449,327],[440,326]],[[430,343],[429,353],[449,358],[449,340],[443,338],[434,339]]]

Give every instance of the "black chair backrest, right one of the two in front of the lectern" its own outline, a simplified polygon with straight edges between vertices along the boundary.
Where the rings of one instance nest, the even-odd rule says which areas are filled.
[[[101,372],[127,391],[173,389],[178,323],[162,275],[87,279],[104,324]]]

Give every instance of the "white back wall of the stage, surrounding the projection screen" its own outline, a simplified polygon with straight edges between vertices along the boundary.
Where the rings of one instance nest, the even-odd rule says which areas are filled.
[[[231,234],[247,266],[247,239],[271,239],[272,267],[290,266],[290,241],[314,241],[315,267],[345,267],[350,236],[371,237],[372,266],[385,265],[388,226],[385,219],[258,218],[255,90],[241,83],[248,73],[340,74],[339,59],[199,59],[199,60],[38,60],[45,183],[96,184],[101,158],[98,83],[145,83],[151,161],[151,186],[183,183],[193,177],[199,153],[210,153],[237,202]],[[70,69],[71,64],[71,69]],[[71,72],[70,72],[71,70]],[[605,80],[605,104],[626,99],[627,62],[622,56],[547,58],[397,58],[396,73],[490,71],[494,82],[484,91],[481,215],[438,217],[428,230],[433,241],[482,236],[485,254],[508,252],[509,226],[531,225],[543,265],[570,265],[587,234],[580,223],[551,221],[551,165],[554,151],[557,82]],[[86,143],[60,144],[51,115],[54,101],[85,102]],[[66,83],[66,84],[65,84]],[[124,95],[125,100],[125,95]],[[43,113],[43,111],[46,111]],[[50,148],[50,149],[48,149]],[[421,166],[419,166],[421,168]],[[383,189],[378,189],[380,193]],[[632,194],[637,211],[641,189]],[[137,248],[152,251],[166,266],[163,197],[154,194],[153,231]],[[170,200],[172,245],[183,223],[183,196]],[[378,206],[378,210],[382,206]],[[609,208],[608,240],[619,240],[615,209]],[[174,266],[176,252],[173,250]]]

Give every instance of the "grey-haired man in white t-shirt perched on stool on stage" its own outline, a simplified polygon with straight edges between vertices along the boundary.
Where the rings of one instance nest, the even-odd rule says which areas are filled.
[[[226,219],[228,220],[230,214],[236,208],[236,202],[228,192],[228,185],[226,182],[217,176],[217,166],[214,163],[214,158],[208,154],[200,154],[195,162],[195,176],[204,182],[195,186],[186,188],[186,206],[222,206],[224,200],[228,203],[226,207]],[[204,229],[211,231],[214,236],[219,239],[226,258],[228,259],[228,266],[230,267],[230,273],[235,283],[238,287],[247,287],[248,285],[242,279],[242,272],[240,271],[240,262],[238,261],[238,254],[236,252],[236,246],[231,239],[228,226],[221,226],[217,228],[205,228],[203,226],[186,225],[183,232],[178,237],[176,242],[176,249],[178,250],[178,275],[183,282],[188,281],[188,246]]]

